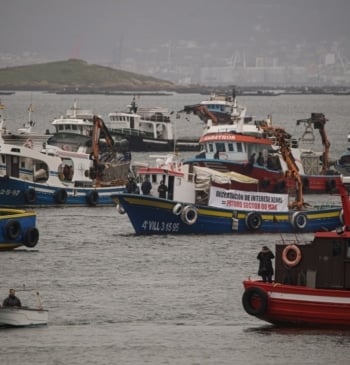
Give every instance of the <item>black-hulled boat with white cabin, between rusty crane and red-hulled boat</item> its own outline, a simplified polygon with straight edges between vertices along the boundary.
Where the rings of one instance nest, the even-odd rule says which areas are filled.
[[[114,138],[129,141],[131,151],[198,152],[198,137],[177,138],[172,114],[161,107],[140,108],[134,96],[129,110],[108,114],[106,125]]]

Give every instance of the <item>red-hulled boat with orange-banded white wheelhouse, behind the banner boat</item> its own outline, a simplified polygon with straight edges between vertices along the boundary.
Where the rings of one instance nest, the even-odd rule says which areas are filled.
[[[288,166],[281,153],[283,146],[280,145],[283,144],[289,146],[289,159],[293,159],[303,179],[305,192],[337,191],[340,177],[338,172],[330,169],[330,142],[325,132],[327,119],[323,114],[312,113],[310,118],[298,120],[297,124],[304,124],[305,130],[302,137],[296,140],[282,128],[274,127],[271,118],[249,123],[246,122],[245,113],[236,113],[237,117],[232,118],[230,124],[221,124],[202,105],[188,107],[187,111],[191,110],[197,115],[207,115],[208,122],[199,140],[201,152],[195,158],[188,159],[189,163],[249,175],[260,181],[261,191],[289,192],[294,189],[294,181],[286,175]],[[300,148],[300,144],[314,141],[315,130],[321,135],[324,151]],[[257,159],[259,155],[260,160]]]

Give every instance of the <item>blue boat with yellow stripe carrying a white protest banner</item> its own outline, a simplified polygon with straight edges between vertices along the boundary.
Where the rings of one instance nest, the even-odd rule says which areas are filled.
[[[315,232],[340,224],[339,205],[311,207],[300,196],[291,201],[287,194],[261,193],[258,181],[245,175],[158,160],[136,172],[141,192],[143,181],[151,182],[150,194],[116,196],[117,211],[128,215],[138,235]],[[161,181],[167,186],[162,198]],[[249,191],[232,188],[245,184]]]

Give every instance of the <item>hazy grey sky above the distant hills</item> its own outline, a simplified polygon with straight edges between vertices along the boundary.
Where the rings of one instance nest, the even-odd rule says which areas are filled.
[[[0,52],[96,62],[121,42],[342,41],[349,17],[350,0],[1,0]]]

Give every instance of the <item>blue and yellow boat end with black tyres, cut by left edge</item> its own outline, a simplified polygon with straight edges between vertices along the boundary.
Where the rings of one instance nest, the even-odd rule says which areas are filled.
[[[0,190],[3,188],[0,187]],[[21,246],[33,248],[38,240],[35,212],[0,208],[0,250],[12,250]]]

